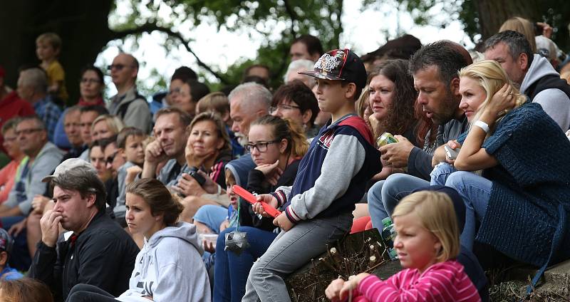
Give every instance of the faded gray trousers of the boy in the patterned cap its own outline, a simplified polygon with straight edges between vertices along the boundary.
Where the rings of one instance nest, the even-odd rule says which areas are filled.
[[[346,234],[352,220],[352,213],[347,213],[304,220],[289,231],[281,231],[249,271],[242,301],[291,301],[284,278],[326,251],[326,244]]]

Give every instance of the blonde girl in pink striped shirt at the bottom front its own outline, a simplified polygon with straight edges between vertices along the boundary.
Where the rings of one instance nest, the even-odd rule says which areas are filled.
[[[408,195],[392,214],[397,236],[394,248],[405,268],[386,281],[361,273],[338,278],[326,288],[331,301],[481,301],[463,266],[459,228],[451,199],[445,193]]]

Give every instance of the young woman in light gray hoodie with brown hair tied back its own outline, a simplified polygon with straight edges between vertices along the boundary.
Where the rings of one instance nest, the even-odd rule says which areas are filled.
[[[196,227],[177,222],[182,204],[157,179],[128,184],[125,219],[131,234],[145,236],[129,289],[118,298],[88,284],[73,286],[67,302],[210,301]]]

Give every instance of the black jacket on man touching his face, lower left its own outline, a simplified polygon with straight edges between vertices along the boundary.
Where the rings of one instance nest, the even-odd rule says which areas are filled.
[[[97,286],[113,296],[129,287],[139,252],[135,241],[106,213],[98,213],[77,237],[55,247],[38,243],[29,276],[46,283],[54,301],[64,301],[78,283]]]

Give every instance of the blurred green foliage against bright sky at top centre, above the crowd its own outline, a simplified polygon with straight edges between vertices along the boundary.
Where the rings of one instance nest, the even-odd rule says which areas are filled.
[[[120,5],[128,6],[130,14],[111,22],[115,31],[131,30],[148,22],[176,31],[185,21],[190,21],[191,26],[215,21],[217,28],[236,33],[254,28],[262,37],[257,59],[230,66],[223,74],[230,83],[239,83],[247,66],[261,63],[271,68],[271,85],[275,87],[286,71],[289,44],[296,36],[310,33],[321,39],[323,48],[331,49],[338,47],[338,36],[343,31],[343,0],[126,0]],[[160,14],[165,8],[170,11],[167,18]],[[164,46],[168,50],[179,44],[179,40],[170,37]],[[219,66],[210,67],[219,73]]]

